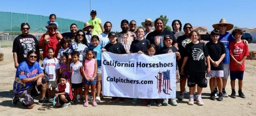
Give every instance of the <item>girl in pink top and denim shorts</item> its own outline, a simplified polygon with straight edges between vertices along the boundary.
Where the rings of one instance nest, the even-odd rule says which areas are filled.
[[[88,49],[86,51],[86,59],[84,62],[84,65],[82,66],[82,74],[84,75],[84,96],[85,96],[85,103],[84,106],[87,107],[88,104],[88,91],[89,87],[92,90],[92,96],[93,96],[93,106],[97,106],[97,103],[95,102],[95,96],[96,96],[96,72],[97,72],[97,61],[94,57],[94,52],[92,49]]]

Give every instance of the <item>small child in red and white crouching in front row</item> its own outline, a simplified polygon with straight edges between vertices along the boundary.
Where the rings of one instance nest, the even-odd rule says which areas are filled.
[[[55,94],[55,97],[59,99],[59,103],[56,104],[56,107],[62,106],[63,108],[66,108],[70,106],[70,101],[73,99],[73,95],[71,85],[67,81],[67,75],[63,74],[60,76],[56,91],[57,93]]]

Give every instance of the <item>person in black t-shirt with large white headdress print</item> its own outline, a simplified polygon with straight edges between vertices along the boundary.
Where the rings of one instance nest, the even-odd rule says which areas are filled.
[[[204,45],[204,43],[200,43],[198,41],[200,37],[199,32],[195,30],[191,31],[191,33],[189,33],[189,37],[191,38],[191,42],[185,46],[185,54],[181,66],[181,74],[184,73],[184,67],[188,61],[185,67],[188,71],[188,87],[190,94],[188,105],[194,104],[193,94],[195,91],[195,85],[197,84],[197,104],[202,106],[204,105],[204,102],[201,98],[201,93],[203,87],[205,87],[205,84],[207,84],[203,81],[205,78],[205,71],[207,71],[207,73],[210,72],[209,55],[207,47]],[[205,62],[207,65],[205,65]]]

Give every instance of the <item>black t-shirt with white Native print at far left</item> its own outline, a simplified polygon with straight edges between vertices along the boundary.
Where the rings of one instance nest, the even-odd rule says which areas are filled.
[[[13,53],[17,53],[18,63],[26,61],[27,53],[30,50],[39,51],[39,42],[35,36],[19,35],[13,41]],[[39,61],[40,58],[38,58]]]

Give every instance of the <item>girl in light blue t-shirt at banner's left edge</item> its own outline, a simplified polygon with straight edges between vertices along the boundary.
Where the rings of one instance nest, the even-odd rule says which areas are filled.
[[[96,35],[92,36],[92,46],[90,49],[93,49],[96,54],[97,59],[97,83],[96,83],[96,102],[100,102],[100,93],[101,93],[101,49],[100,38]]]

